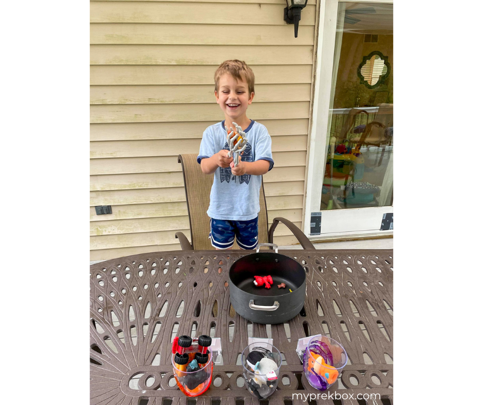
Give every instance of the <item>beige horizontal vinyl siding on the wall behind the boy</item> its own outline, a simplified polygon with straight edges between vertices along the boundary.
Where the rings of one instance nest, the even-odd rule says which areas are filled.
[[[190,239],[177,156],[198,153],[203,131],[224,119],[213,76],[226,59],[253,69],[247,115],[272,137],[269,222],[282,216],[300,228],[315,0],[302,11],[296,39],[283,21],[285,0],[89,5],[89,260],[179,250],[176,231]],[[113,213],[96,215],[98,205]],[[274,242],[297,243],[282,224]]]

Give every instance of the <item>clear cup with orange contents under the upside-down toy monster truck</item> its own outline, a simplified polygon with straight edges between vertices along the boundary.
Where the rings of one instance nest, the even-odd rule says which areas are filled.
[[[194,353],[193,353],[194,355]],[[208,390],[213,377],[213,357],[211,352],[208,354],[208,362],[201,369],[191,373],[181,371],[178,364],[174,362],[174,354],[171,355],[171,363],[173,364],[174,378],[178,388],[184,395],[189,397],[197,397]]]

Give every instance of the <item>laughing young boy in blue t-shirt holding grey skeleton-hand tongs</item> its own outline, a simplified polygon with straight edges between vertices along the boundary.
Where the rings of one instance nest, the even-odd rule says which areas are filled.
[[[215,72],[215,97],[225,119],[203,133],[198,163],[205,174],[215,173],[207,214],[211,218],[211,244],[217,249],[254,249],[258,239],[259,196],[262,175],[273,167],[272,141],[267,128],[247,117],[255,96],[255,77],[245,62],[232,60]],[[234,167],[226,127],[248,139]],[[230,129],[232,128],[232,129]],[[230,136],[233,135],[232,133]]]

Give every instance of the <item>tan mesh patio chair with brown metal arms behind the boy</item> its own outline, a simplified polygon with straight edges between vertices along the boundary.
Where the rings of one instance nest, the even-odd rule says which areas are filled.
[[[210,205],[213,175],[206,175],[201,171],[200,164],[196,161],[197,156],[196,154],[178,156],[178,163],[181,163],[183,170],[184,190],[190,220],[191,244],[182,232],[176,232],[176,238],[179,240],[182,250],[215,250],[208,238],[210,218],[206,213]],[[273,243],[273,232],[279,222],[292,231],[304,249],[314,249],[307,236],[288,219],[276,217],[273,219],[270,229],[268,229],[267,205],[262,180],[260,212],[258,213],[258,242]],[[238,248],[236,241],[233,248]]]

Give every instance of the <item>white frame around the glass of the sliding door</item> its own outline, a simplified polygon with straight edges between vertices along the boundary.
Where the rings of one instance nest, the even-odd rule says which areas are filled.
[[[330,232],[317,236],[310,236],[310,214],[311,207],[320,207],[320,198],[322,194],[322,181],[315,181],[314,176],[323,173],[325,167],[324,158],[327,150],[327,127],[330,106],[330,90],[332,84],[332,65],[333,55],[336,42],[336,24],[337,9],[340,1],[346,3],[386,3],[394,4],[394,0],[321,0],[319,12],[319,34],[317,39],[317,68],[315,70],[315,85],[313,93],[313,108],[311,116],[310,138],[307,144],[307,173],[305,179],[304,205],[302,213],[302,230],[311,240],[322,240],[324,238],[336,238],[351,235],[383,235],[393,234],[393,230],[388,231],[348,231],[348,232]],[[317,146],[317,152],[315,151]],[[377,212],[382,220],[382,214],[394,212],[394,200],[392,206],[389,207],[370,207],[334,210],[337,215],[344,215],[352,220],[360,218],[360,210],[372,210]],[[377,211],[376,211],[377,210]],[[320,212],[314,210],[314,212]],[[323,219],[322,219],[323,220]]]

